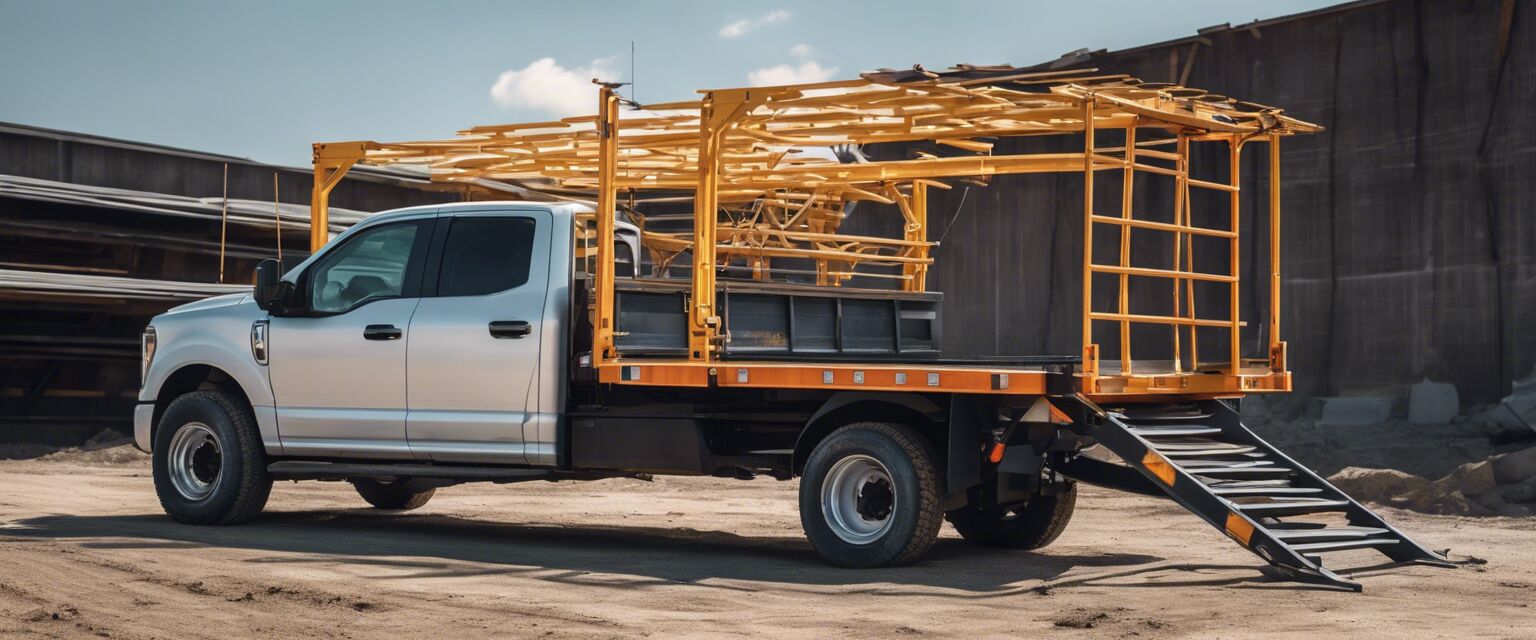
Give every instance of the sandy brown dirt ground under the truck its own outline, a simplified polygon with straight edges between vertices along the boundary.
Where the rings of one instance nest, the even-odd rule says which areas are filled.
[[[822,565],[794,505],[794,482],[668,477],[462,485],[389,514],[306,482],[250,525],[198,528],[161,514],[137,453],[8,460],[0,637],[1536,637],[1536,519],[1385,510],[1476,560],[1366,568],[1350,594],[1103,490],[1038,553],[945,528],[876,571]]]

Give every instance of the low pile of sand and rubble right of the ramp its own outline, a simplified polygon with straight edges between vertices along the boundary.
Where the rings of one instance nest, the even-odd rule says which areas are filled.
[[[1438,480],[1395,470],[1350,467],[1335,487],[1390,506],[1455,516],[1536,514],[1536,447],[1458,467]]]

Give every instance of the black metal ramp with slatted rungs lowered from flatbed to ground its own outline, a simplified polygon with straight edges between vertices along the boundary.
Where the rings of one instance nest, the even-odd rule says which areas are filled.
[[[1283,574],[1361,591],[1322,566],[1330,553],[1373,549],[1393,562],[1453,566],[1243,427],[1217,401],[1097,407],[1091,436]]]

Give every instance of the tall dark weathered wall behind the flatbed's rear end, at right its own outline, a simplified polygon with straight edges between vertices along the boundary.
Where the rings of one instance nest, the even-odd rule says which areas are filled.
[[[1092,57],[1147,81],[1180,81],[1187,66],[1189,86],[1327,127],[1283,144],[1281,322],[1303,394],[1398,393],[1427,376],[1455,382],[1464,401],[1493,401],[1536,362],[1536,8],[1514,8],[1501,55],[1502,9],[1366,2]],[[1263,192],[1267,152],[1244,153],[1244,189]],[[1226,212],[1215,198],[1195,204],[1197,223]],[[1269,295],[1253,275],[1269,258],[1250,232],[1267,227],[1267,207],[1244,206],[1243,315],[1256,321]],[[1077,176],[934,193],[946,348],[1077,351],[1080,207]],[[1203,351],[1207,342],[1217,335],[1201,335]],[[1250,332],[1244,355],[1261,344]]]

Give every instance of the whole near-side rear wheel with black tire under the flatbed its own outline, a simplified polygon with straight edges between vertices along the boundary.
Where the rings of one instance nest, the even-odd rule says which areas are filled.
[[[800,526],[831,565],[909,565],[934,546],[942,523],[932,447],[909,427],[842,427],[805,462]]]

